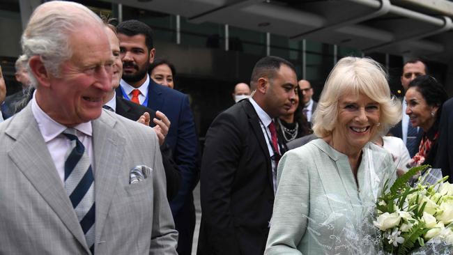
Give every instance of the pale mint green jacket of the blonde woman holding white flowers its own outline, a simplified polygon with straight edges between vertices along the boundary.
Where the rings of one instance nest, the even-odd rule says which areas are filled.
[[[396,178],[395,169],[390,153],[372,143],[362,149],[358,183],[348,157],[323,139],[289,150],[277,170],[265,254],[367,254],[376,249],[371,212],[385,180]]]

